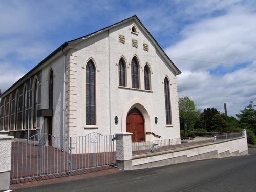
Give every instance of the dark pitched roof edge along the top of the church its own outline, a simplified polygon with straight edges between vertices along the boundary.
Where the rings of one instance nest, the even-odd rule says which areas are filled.
[[[145,34],[148,35],[148,37],[152,40],[152,42],[155,44],[156,49],[160,52],[160,54],[163,56],[163,58],[169,62],[170,67],[173,68],[173,70],[175,71],[176,75],[181,74],[181,71],[175,66],[175,64],[173,63],[172,60],[170,60],[170,58],[167,56],[167,54],[163,51],[163,49],[160,47],[160,45],[158,44],[158,42],[155,40],[155,38],[151,35],[150,32],[148,32],[148,30],[145,28],[145,26],[141,23],[141,21],[139,20],[139,18],[137,17],[137,15],[134,15],[130,18],[124,19],[121,22],[115,23],[109,27],[105,27],[103,29],[100,29],[96,32],[93,32],[89,35],[86,36],[82,36],[70,41],[66,41],[64,42],[61,46],[59,46],[55,51],[53,51],[50,55],[48,55],[44,60],[42,60],[41,62],[39,62],[33,69],[31,69],[28,73],[26,73],[22,78],[20,78],[18,81],[16,81],[10,88],[8,88],[4,93],[1,94],[0,97],[3,97],[5,94],[7,94],[9,91],[11,91],[11,89],[16,86],[18,83],[23,83],[23,81],[25,81],[26,77],[29,77],[31,75],[33,75],[33,72],[37,69],[40,69],[42,67],[42,65],[44,65],[44,63],[46,63],[47,61],[51,60],[54,56],[58,55],[58,54],[65,54],[63,52],[63,50],[65,49],[69,49],[72,48],[75,44],[78,44],[79,42],[86,40],[92,36],[95,36],[97,34],[100,34],[104,31],[108,31],[109,29],[112,29],[116,26],[119,26],[123,23],[129,22],[130,20],[135,20],[137,22],[138,25],[140,25],[141,29],[144,30]]]

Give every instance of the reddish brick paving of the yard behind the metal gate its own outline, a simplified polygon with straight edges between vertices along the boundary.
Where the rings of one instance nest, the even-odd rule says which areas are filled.
[[[67,177],[109,169],[115,152],[72,154],[52,146],[12,142],[11,184]],[[104,167],[106,166],[106,167]]]

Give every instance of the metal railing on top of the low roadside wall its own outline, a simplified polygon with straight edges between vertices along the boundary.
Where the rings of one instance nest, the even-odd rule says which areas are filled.
[[[156,141],[136,142],[132,143],[132,154],[146,154],[160,151],[173,150],[187,146],[200,145],[221,140],[229,140],[237,137],[242,137],[243,132],[230,132],[215,135],[206,135],[198,137],[184,137],[178,139],[165,139]]]

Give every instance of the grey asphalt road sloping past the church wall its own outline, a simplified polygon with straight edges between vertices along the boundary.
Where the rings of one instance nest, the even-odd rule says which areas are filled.
[[[119,172],[19,191],[256,191],[256,150],[249,155]]]

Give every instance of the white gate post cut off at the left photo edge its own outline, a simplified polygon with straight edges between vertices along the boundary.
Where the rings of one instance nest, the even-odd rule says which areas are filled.
[[[9,190],[13,136],[0,135],[0,191]]]

